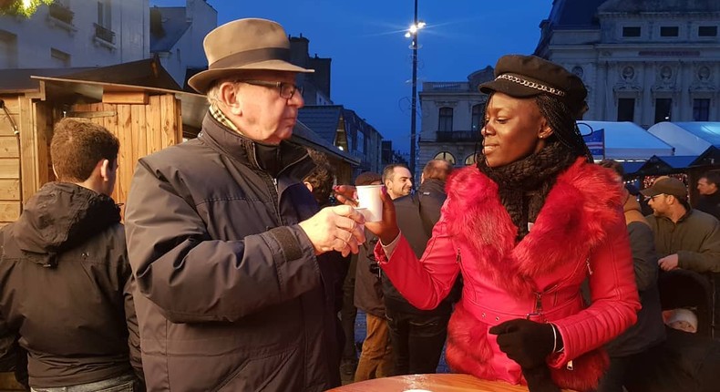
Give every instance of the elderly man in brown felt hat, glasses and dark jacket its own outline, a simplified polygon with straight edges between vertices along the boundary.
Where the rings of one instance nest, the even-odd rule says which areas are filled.
[[[318,257],[356,253],[362,215],[317,212],[292,136],[301,91],[283,27],[235,20],[189,84],[211,104],[197,139],[139,160],[128,250],[149,390],[321,391],[339,384]],[[333,354],[329,354],[329,352]]]

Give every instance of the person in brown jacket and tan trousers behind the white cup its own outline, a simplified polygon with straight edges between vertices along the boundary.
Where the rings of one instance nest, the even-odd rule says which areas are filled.
[[[355,186],[380,185],[381,180],[379,174],[365,171],[357,176]],[[367,333],[357,361],[355,382],[393,376],[393,351],[386,323],[380,267],[373,253],[377,237],[365,232],[365,238],[357,253],[355,307],[365,312]]]

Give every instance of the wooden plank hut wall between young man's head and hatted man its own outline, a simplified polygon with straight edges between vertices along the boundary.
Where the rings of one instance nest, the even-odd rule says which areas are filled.
[[[124,204],[128,200],[130,182],[140,158],[182,141],[179,99],[168,94],[150,96],[147,105],[134,103],[141,101],[130,96],[129,103],[77,104],[72,107],[73,112],[115,113],[91,120],[120,140],[118,181],[112,194],[118,203]],[[118,98],[113,97],[113,102],[118,102]],[[123,214],[124,211],[123,208]]]

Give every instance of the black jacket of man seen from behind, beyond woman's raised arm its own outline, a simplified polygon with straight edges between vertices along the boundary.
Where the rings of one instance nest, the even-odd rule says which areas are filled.
[[[415,195],[407,195],[393,201],[396,209],[397,226],[403,232],[407,242],[417,257],[425,253],[427,241],[432,236],[432,228],[440,219],[440,209],[447,198],[445,181],[427,179],[417,188]],[[454,289],[453,292],[456,290]],[[416,315],[449,314],[452,311],[451,297],[441,302],[433,310],[420,310],[409,304],[390,279],[383,274],[383,294],[385,305],[396,312]]]

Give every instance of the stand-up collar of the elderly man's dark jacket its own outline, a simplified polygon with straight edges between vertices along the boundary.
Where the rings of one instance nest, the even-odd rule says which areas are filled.
[[[270,157],[271,154],[259,153],[262,143],[228,129],[228,127],[215,119],[210,112],[202,120],[202,131],[198,135],[198,139],[211,146],[214,150],[220,150],[225,155],[230,156],[231,159],[240,161],[252,170],[267,171],[265,168],[270,166],[267,162],[263,162],[263,159],[268,159],[267,157]],[[278,145],[278,149],[280,149],[280,162],[277,165],[276,175],[271,175],[271,177],[277,177],[284,172],[284,174],[290,174],[293,179],[300,181],[313,170],[313,161],[310,159],[307,149],[303,146],[283,140]]]

